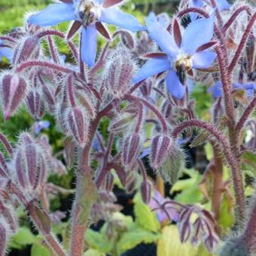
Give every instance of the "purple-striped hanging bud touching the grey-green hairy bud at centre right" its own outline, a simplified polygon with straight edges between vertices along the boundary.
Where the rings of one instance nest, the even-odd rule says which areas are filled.
[[[169,136],[157,135],[151,142],[151,167],[158,169],[166,160],[172,139]]]

